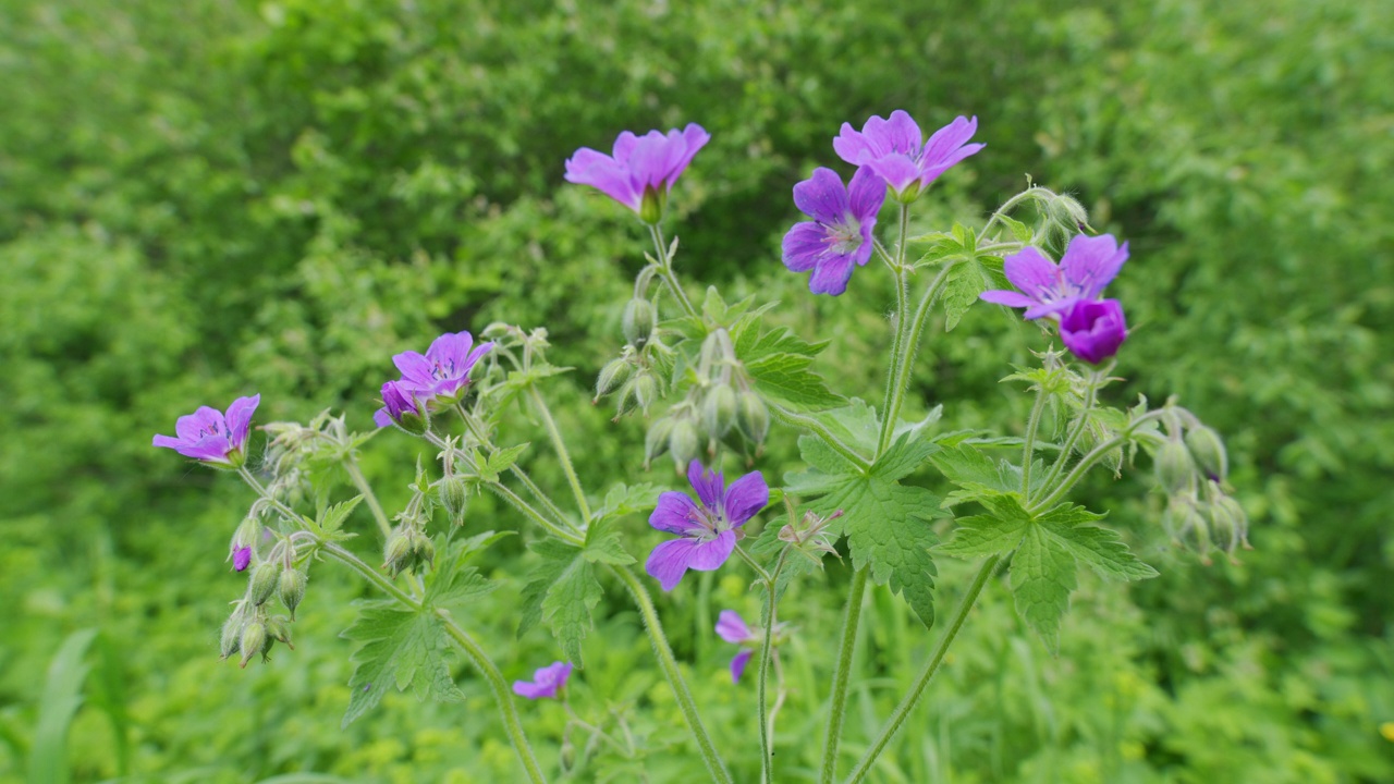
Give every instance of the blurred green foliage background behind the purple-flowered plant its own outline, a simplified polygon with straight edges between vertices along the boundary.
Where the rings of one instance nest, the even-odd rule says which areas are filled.
[[[644,236],[562,162],[689,121],[712,134],[669,218],[690,285],[779,299],[776,321],[832,340],[835,386],[875,399],[885,276],[814,300],[778,241],[792,184],[843,169],[839,124],[894,109],[976,114],[988,145],[923,227],[981,220],[1030,174],[1131,241],[1111,402],[1177,393],[1228,435],[1256,550],[1204,566],[1167,547],[1146,469],[1097,477],[1085,499],[1163,576],[1085,578],[1059,658],[990,589],[875,780],[1394,781],[1394,4],[1369,0],[0,4],[0,780],[512,781],[464,665],[464,704],[393,696],[340,730],[336,635],[365,590],[332,568],[296,651],[220,663],[250,498],[151,434],[252,392],[261,423],[332,406],[369,428],[392,353],[502,319],[546,326],[577,368],[549,395],[590,487],[675,484],[641,473],[640,423],[587,405]],[[1039,336],[986,307],[933,329],[910,413],[1019,427],[998,378]],[[413,455],[396,434],[365,449],[389,506]],[[763,467],[795,466],[782,432]],[[470,525],[519,520],[481,501]],[[505,587],[467,619],[509,677],[558,656],[545,631],[513,635],[521,538],[481,564]],[[963,579],[942,564],[941,604]],[[814,776],[846,580],[834,562],[786,603],[781,780]],[[753,693],[710,632],[726,607],[754,615],[739,571],[662,611],[750,777]],[[631,608],[615,593],[598,612],[574,702],[626,716],[647,756],[587,776],[698,780]],[[863,633],[849,756],[935,636],[884,589]],[[555,759],[565,714],[524,707]]]

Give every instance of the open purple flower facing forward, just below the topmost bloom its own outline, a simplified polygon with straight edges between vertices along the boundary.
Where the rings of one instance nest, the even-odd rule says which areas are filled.
[[[813,269],[809,290],[838,296],[848,290],[852,265],[871,258],[871,230],[885,201],[885,183],[870,169],[857,169],[849,187],[832,169],[818,167],[793,187],[793,202],[813,220],[795,223],[785,234],[783,262],[795,272]]]

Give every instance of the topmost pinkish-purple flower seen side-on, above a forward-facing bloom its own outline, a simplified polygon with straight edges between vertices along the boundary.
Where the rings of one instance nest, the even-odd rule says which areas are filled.
[[[920,126],[898,109],[889,120],[871,117],[861,133],[852,130],[850,123],[842,123],[832,149],[848,163],[875,172],[895,191],[898,201],[909,204],[940,174],[987,146],[967,144],[974,133],[977,117],[956,117],[924,141]]]

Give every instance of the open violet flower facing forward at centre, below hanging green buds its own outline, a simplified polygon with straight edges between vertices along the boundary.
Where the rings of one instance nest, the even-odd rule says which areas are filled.
[[[704,473],[701,463],[687,466],[687,480],[701,506],[686,492],[668,491],[658,497],[658,508],[648,525],[661,532],[680,534],[654,548],[644,568],[664,590],[673,590],[687,569],[710,572],[730,558],[736,532],[756,512],[769,504],[769,488],[760,472],[751,472],[725,487],[721,472]]]

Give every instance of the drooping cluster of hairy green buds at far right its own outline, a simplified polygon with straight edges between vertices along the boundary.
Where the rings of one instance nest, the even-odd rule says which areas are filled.
[[[1165,441],[1157,446],[1157,484],[1167,494],[1163,523],[1171,537],[1192,545],[1209,564],[1210,550],[1234,561],[1234,551],[1249,548],[1249,516],[1225,491],[1230,472],[1224,442],[1190,412],[1172,407],[1164,419]]]

